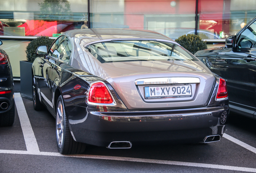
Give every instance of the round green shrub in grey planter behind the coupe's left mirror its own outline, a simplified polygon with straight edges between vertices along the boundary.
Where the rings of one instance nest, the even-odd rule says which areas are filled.
[[[47,36],[37,37],[34,40],[32,40],[27,45],[27,48],[26,48],[27,60],[29,62],[34,62],[35,58],[38,56],[36,54],[37,47],[46,45],[50,48],[50,46],[52,45],[53,42],[54,42],[54,40]]]

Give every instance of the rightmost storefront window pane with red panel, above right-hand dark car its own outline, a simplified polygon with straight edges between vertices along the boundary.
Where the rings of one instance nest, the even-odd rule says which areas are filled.
[[[235,35],[256,16],[255,6],[255,0],[198,0],[198,35],[205,39],[213,39],[206,33],[218,39]]]

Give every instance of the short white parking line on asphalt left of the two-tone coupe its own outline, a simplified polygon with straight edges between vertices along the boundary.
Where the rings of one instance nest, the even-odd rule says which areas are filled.
[[[15,100],[18,116],[20,119],[21,129],[22,129],[22,133],[26,143],[27,151],[38,153],[40,152],[39,147],[37,145],[37,140],[35,138],[35,134],[31,127],[29,117],[27,116],[27,111],[25,109],[23,100],[21,98],[21,93],[14,93],[14,100]]]

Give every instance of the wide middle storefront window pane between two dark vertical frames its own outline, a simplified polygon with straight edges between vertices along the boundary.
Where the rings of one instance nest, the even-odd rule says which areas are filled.
[[[132,28],[178,38],[195,30],[196,0],[92,0],[92,28]]]

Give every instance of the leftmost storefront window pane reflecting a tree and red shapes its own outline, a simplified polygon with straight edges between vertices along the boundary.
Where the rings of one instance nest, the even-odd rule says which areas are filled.
[[[87,0],[1,0],[0,35],[57,37],[87,28]]]

